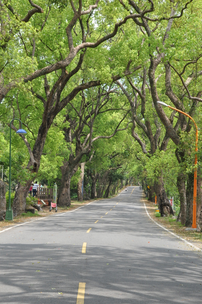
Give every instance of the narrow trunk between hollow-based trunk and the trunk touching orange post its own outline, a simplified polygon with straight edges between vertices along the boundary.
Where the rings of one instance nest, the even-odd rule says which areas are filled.
[[[185,185],[186,177],[183,172],[180,172],[177,177],[177,188],[179,192],[180,199],[180,212],[179,215],[181,218],[181,224],[185,225],[186,222],[186,185]],[[179,217],[177,218],[179,221]]]

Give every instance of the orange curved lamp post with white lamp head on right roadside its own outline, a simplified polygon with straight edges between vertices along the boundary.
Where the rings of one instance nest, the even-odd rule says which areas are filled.
[[[197,125],[195,123],[195,121],[193,120],[193,118],[189,115],[186,114],[183,111],[180,111],[176,108],[171,107],[170,105],[167,105],[165,102],[162,101],[157,101],[158,103],[160,103],[161,105],[165,105],[166,107],[176,110],[177,112],[180,112],[186,116],[188,116],[194,123],[194,126],[196,128],[196,144],[195,144],[195,161],[194,161],[194,180],[193,180],[193,222],[192,222],[192,228],[197,228],[197,223],[196,223],[196,219],[197,219],[197,151],[198,151],[198,128]]]

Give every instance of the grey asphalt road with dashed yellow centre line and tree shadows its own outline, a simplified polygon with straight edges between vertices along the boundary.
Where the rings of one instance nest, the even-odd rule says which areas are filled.
[[[82,304],[85,287],[85,304],[201,303],[201,252],[156,226],[141,195],[0,233],[0,302]]]

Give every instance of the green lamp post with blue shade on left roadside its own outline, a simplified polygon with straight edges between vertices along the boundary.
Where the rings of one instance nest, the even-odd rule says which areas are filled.
[[[17,134],[26,134],[27,132],[22,129],[23,124],[22,121],[18,118],[14,118],[10,122],[10,153],[9,153],[9,209],[5,212],[5,219],[12,221],[13,220],[13,212],[11,209],[11,123],[13,120],[19,120],[21,123],[21,129],[17,130]]]

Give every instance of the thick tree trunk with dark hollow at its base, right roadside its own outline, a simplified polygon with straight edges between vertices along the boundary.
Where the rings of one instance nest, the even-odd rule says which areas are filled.
[[[163,183],[163,174],[158,178],[158,181],[154,184],[154,190],[158,199],[158,208],[161,216],[164,215],[174,215],[168,197],[165,193],[164,183]]]

